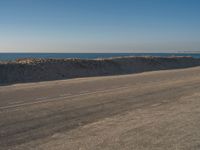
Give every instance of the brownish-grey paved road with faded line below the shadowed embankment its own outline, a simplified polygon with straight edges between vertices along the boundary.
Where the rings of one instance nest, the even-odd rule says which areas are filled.
[[[0,149],[200,149],[200,67],[0,87]]]

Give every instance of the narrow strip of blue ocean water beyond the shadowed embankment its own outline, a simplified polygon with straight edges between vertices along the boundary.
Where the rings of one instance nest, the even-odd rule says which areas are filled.
[[[109,58],[119,56],[191,56],[200,58],[200,53],[0,53],[0,61],[18,58]]]

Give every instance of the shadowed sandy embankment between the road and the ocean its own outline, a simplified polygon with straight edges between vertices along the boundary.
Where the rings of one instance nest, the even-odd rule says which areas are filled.
[[[120,75],[200,65],[192,57],[118,57],[107,59],[19,59],[0,62],[0,84]]]

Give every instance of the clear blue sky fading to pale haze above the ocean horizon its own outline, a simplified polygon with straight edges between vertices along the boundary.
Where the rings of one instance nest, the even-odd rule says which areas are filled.
[[[200,50],[200,0],[0,0],[0,52]]]

